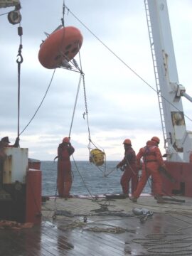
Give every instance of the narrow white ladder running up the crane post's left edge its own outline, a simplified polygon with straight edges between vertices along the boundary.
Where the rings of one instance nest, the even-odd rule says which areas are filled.
[[[151,55],[153,59],[154,64],[154,75],[155,75],[155,81],[156,81],[156,92],[158,96],[158,102],[159,102],[159,111],[160,111],[160,117],[161,117],[161,127],[163,130],[163,136],[164,136],[164,149],[168,148],[168,142],[167,142],[167,136],[166,136],[166,125],[165,125],[165,118],[164,118],[164,110],[163,110],[163,103],[162,103],[162,97],[161,97],[161,90],[159,85],[159,75],[157,70],[157,64],[156,64],[156,55],[154,50],[154,40],[153,40],[153,34],[151,30],[151,20],[149,15],[149,6],[148,6],[148,0],[144,0],[145,5],[145,11],[146,11],[146,22],[148,26],[148,32],[149,32],[149,41],[151,46]]]

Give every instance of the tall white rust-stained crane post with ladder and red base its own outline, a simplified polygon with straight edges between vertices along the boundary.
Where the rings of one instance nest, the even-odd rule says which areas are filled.
[[[165,186],[170,193],[192,196],[192,132],[186,130],[181,96],[190,101],[191,97],[178,82],[166,0],[144,0],[144,5],[164,134],[166,166],[178,181],[172,185],[165,183]]]

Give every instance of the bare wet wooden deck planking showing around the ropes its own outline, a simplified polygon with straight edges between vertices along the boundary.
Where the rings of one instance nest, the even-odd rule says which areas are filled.
[[[139,198],[140,199],[140,198]],[[49,201],[43,206],[43,220],[40,226],[23,230],[0,230],[1,256],[123,256],[123,255],[152,255],[146,247],[136,243],[134,239],[144,238],[149,234],[176,233],[176,238],[191,235],[192,199],[186,198],[186,203],[156,204],[153,198],[141,198],[139,203],[132,203],[129,199],[110,202],[108,213],[132,213],[132,208],[149,208],[155,210],[152,218],[140,223],[137,216],[122,218],[117,215],[97,215],[100,202],[89,199],[71,198],[67,201]],[[109,202],[108,202],[109,203]],[[57,210],[72,213],[73,217],[56,216]],[[83,223],[84,216],[87,223],[68,228],[74,221]],[[127,228],[124,233],[106,233],[86,230],[87,228]],[[177,230],[181,230],[178,234]],[[133,233],[132,233],[133,232]],[[171,237],[174,239],[174,236]],[[192,251],[191,251],[192,255]]]

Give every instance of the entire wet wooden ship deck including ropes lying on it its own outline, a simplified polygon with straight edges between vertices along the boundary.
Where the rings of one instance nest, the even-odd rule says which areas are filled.
[[[49,198],[41,225],[0,230],[0,255],[192,255],[192,198]],[[152,211],[143,222],[133,208]]]

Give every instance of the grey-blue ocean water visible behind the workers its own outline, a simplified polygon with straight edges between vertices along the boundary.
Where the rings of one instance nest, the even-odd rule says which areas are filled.
[[[122,171],[116,169],[118,161],[107,161],[105,166],[95,166],[89,161],[71,161],[73,184],[72,195],[102,195],[122,193]],[[57,161],[41,161],[42,196],[57,195]],[[146,183],[143,193],[150,193],[151,184]]]

